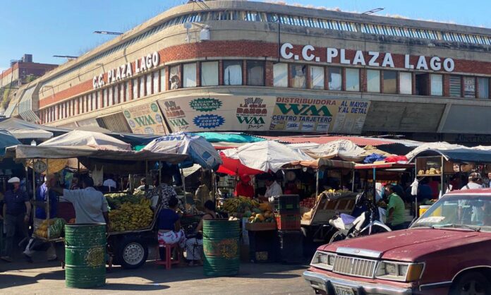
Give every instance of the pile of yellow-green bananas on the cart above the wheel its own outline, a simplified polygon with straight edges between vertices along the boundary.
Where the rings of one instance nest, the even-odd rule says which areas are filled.
[[[154,212],[150,209],[150,199],[126,193],[106,195],[109,207],[111,231],[131,231],[145,229],[152,223]]]

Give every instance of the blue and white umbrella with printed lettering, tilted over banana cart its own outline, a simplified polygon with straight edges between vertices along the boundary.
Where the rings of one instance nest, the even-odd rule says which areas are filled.
[[[214,169],[222,164],[222,159],[217,150],[213,148],[202,136],[196,136],[190,133],[171,133],[160,138],[152,140],[142,150],[159,153],[173,153],[188,155],[192,163],[189,165],[200,164],[205,169]],[[186,167],[186,164],[183,164]]]

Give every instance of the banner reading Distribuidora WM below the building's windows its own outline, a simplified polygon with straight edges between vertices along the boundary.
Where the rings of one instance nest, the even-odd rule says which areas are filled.
[[[271,131],[360,134],[370,102],[277,97]]]

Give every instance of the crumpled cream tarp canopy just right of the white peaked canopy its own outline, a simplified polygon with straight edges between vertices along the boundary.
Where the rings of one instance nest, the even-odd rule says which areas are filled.
[[[366,157],[366,151],[363,148],[358,147],[351,140],[342,139],[323,143],[312,148],[305,148],[303,151],[314,159],[339,157],[348,162],[360,162]]]

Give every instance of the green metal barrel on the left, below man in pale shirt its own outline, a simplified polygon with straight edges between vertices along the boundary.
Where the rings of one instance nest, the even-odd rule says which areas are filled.
[[[65,225],[65,287],[95,288],[106,284],[106,225]]]

